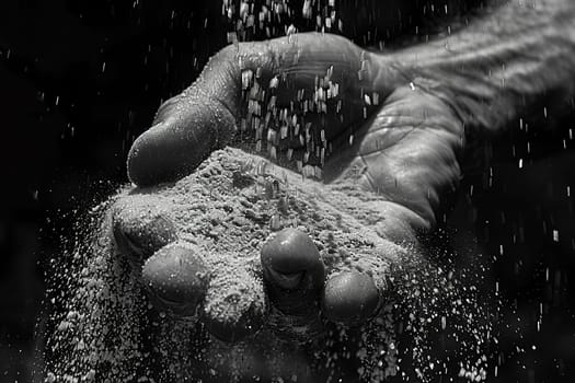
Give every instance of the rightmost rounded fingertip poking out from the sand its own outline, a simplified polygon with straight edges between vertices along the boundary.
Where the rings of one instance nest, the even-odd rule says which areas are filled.
[[[330,321],[358,325],[377,313],[380,292],[370,276],[342,272],[325,283],[321,305],[322,313]]]

